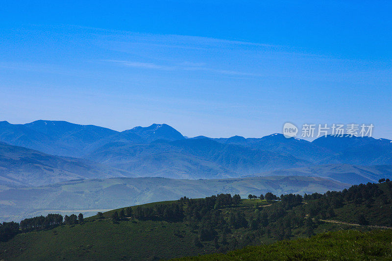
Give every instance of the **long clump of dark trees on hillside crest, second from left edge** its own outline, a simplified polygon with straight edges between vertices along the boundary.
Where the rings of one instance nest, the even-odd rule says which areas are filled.
[[[53,228],[63,224],[63,216],[60,214],[48,214],[47,216],[35,216],[25,218],[20,223],[20,228],[23,232]]]

